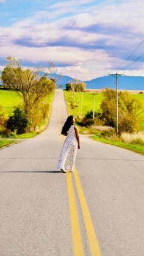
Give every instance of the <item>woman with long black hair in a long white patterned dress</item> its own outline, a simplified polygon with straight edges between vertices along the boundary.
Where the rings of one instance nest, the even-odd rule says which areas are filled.
[[[80,148],[79,133],[77,127],[73,124],[74,118],[73,115],[70,115],[63,125],[61,132],[61,134],[67,136],[63,143],[57,164],[57,169],[62,170],[62,172],[67,172],[67,170],[73,172],[77,148]]]

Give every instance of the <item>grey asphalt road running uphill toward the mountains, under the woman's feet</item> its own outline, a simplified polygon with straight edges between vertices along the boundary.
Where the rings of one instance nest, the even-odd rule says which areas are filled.
[[[80,136],[76,170],[63,174],[66,118],[56,90],[48,128],[0,150],[0,256],[98,256],[97,242],[103,256],[143,256],[144,157]]]

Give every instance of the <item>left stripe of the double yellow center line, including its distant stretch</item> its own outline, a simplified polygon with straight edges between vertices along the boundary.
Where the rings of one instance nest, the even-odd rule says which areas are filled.
[[[60,131],[60,108],[59,108],[59,131]],[[61,136],[62,141],[63,137]],[[73,183],[71,174],[67,172],[68,199],[70,206],[71,233],[73,238],[73,254],[74,256],[84,256],[82,245],[81,230],[79,227],[79,219],[77,215],[76,200],[74,197]]]

